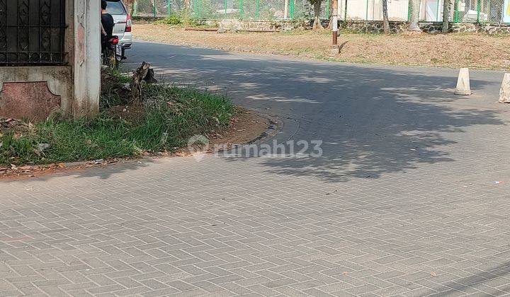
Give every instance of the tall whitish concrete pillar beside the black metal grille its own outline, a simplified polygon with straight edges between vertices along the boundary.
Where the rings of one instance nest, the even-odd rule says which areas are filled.
[[[101,1],[74,0],[74,117],[99,110],[101,92]]]

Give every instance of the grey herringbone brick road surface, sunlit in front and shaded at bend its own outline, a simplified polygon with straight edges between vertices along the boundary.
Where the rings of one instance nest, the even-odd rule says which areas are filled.
[[[501,73],[475,71],[475,94],[455,97],[453,70],[133,53],[277,117],[280,141],[322,139],[322,157],[162,158],[2,182],[0,296],[509,294]]]

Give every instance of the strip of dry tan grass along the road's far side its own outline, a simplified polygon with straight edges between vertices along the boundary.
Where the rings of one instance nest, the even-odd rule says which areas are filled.
[[[185,31],[169,25],[136,23],[138,40],[208,47],[232,52],[283,54],[338,62],[506,69],[510,38],[484,34],[356,34],[341,32],[341,54],[329,55],[328,30],[282,33]]]

